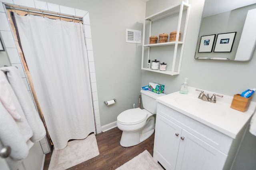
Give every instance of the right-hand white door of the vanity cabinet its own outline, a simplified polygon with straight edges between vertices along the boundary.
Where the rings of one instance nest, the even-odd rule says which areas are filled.
[[[176,170],[222,170],[227,155],[182,129]]]

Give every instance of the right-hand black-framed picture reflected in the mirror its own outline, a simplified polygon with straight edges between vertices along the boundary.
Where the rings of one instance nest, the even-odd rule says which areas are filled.
[[[218,34],[214,52],[231,52],[236,32]]]

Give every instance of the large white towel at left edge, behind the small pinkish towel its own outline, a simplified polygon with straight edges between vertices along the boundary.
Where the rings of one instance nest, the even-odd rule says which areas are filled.
[[[4,105],[0,102],[0,140],[2,141],[2,144],[11,147],[11,158],[14,160],[21,160],[28,155],[28,149],[32,146],[31,142],[28,143],[28,141],[30,141],[33,132],[12,87],[2,71],[0,71],[0,77],[2,77],[2,82],[6,81],[6,83],[4,83],[4,88],[9,92],[10,99],[21,117],[19,121],[13,119]],[[0,86],[0,89],[2,89],[2,86]],[[29,146],[27,144],[29,144]]]

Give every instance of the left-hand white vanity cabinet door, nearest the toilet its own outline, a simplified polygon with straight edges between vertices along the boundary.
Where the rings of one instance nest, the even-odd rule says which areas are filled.
[[[175,169],[181,130],[182,128],[165,117],[156,115],[154,159],[158,160],[166,170]]]

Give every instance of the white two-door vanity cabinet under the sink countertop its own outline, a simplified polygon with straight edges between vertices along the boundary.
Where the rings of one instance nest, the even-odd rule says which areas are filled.
[[[153,158],[166,170],[230,169],[245,130],[233,139],[158,103]]]

